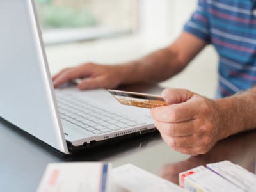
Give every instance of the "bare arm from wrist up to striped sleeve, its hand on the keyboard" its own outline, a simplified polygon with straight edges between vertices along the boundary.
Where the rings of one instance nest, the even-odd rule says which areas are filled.
[[[140,60],[122,65],[122,84],[157,83],[179,73],[207,42],[183,32],[165,49],[153,52]],[[120,74],[120,75],[121,75]]]

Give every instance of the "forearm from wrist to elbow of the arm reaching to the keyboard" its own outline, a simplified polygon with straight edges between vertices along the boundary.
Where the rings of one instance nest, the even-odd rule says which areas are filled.
[[[185,66],[185,63],[179,61],[175,51],[160,49],[140,60],[125,64],[122,83],[157,83],[179,73]]]

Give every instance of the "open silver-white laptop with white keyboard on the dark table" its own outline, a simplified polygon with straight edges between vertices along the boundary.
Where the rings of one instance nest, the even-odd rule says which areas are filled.
[[[0,117],[64,154],[156,130],[106,90],[54,90],[33,0],[0,1]]]

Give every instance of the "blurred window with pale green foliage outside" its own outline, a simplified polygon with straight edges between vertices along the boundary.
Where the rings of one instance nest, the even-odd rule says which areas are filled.
[[[132,33],[139,0],[36,0],[45,44]]]

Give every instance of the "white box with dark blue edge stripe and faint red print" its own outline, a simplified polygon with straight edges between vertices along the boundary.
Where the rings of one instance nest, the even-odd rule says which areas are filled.
[[[110,164],[50,163],[38,192],[107,192]]]

